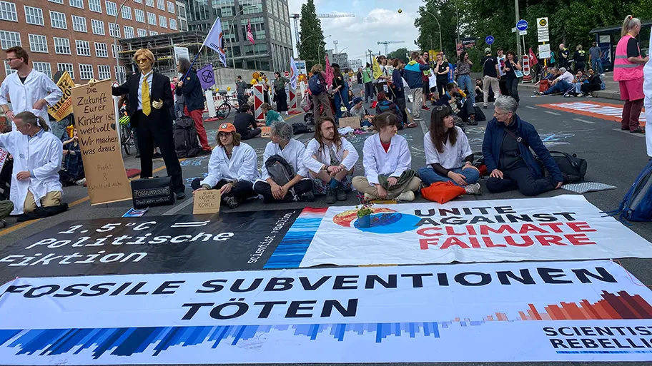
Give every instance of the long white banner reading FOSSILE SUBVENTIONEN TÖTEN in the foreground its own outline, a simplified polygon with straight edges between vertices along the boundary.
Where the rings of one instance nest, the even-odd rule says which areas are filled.
[[[644,361],[650,303],[607,260],[19,278],[0,363]]]

